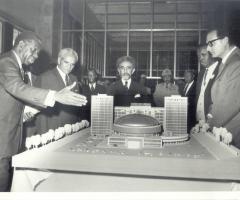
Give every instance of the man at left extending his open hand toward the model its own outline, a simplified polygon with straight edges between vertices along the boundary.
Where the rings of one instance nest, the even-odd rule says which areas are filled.
[[[86,98],[71,92],[74,86],[60,91],[32,87],[24,83],[22,65],[30,65],[40,51],[41,39],[33,32],[23,32],[13,49],[0,57],[0,191],[11,185],[11,157],[22,143],[22,114],[25,104],[39,107],[54,106],[55,102],[82,106]]]

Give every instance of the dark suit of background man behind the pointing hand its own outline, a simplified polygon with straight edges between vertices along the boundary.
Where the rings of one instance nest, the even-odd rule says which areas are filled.
[[[96,87],[91,90],[89,85],[83,85],[81,88],[81,94],[87,97],[86,106],[82,107],[81,115],[84,119],[91,121],[91,96],[98,94],[105,94],[105,87],[96,83]]]

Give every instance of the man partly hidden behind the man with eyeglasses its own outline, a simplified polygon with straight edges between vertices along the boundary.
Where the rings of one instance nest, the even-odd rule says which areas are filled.
[[[207,45],[200,45],[197,49],[198,60],[200,62],[200,72],[196,86],[196,120],[207,120],[209,106],[212,103],[211,88],[217,76],[218,61],[213,59],[207,51]]]

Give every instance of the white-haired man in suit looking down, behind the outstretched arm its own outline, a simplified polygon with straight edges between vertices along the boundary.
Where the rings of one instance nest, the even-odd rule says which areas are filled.
[[[73,49],[61,49],[58,54],[57,66],[38,76],[35,85],[43,89],[59,91],[73,82],[77,82],[77,78],[71,74],[77,61],[78,55]],[[72,91],[79,93],[77,85]],[[35,124],[37,133],[42,134],[49,129],[56,129],[77,121],[79,121],[78,109],[74,106],[56,103],[54,107],[44,109],[38,114]]]

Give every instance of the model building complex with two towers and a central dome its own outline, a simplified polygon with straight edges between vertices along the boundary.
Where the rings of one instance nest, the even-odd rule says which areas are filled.
[[[107,145],[161,148],[163,144],[184,143],[189,138],[186,97],[166,97],[166,107],[151,107],[150,104],[115,107],[114,124],[110,124],[113,123],[113,97],[92,96],[91,105],[91,134],[108,136]]]

